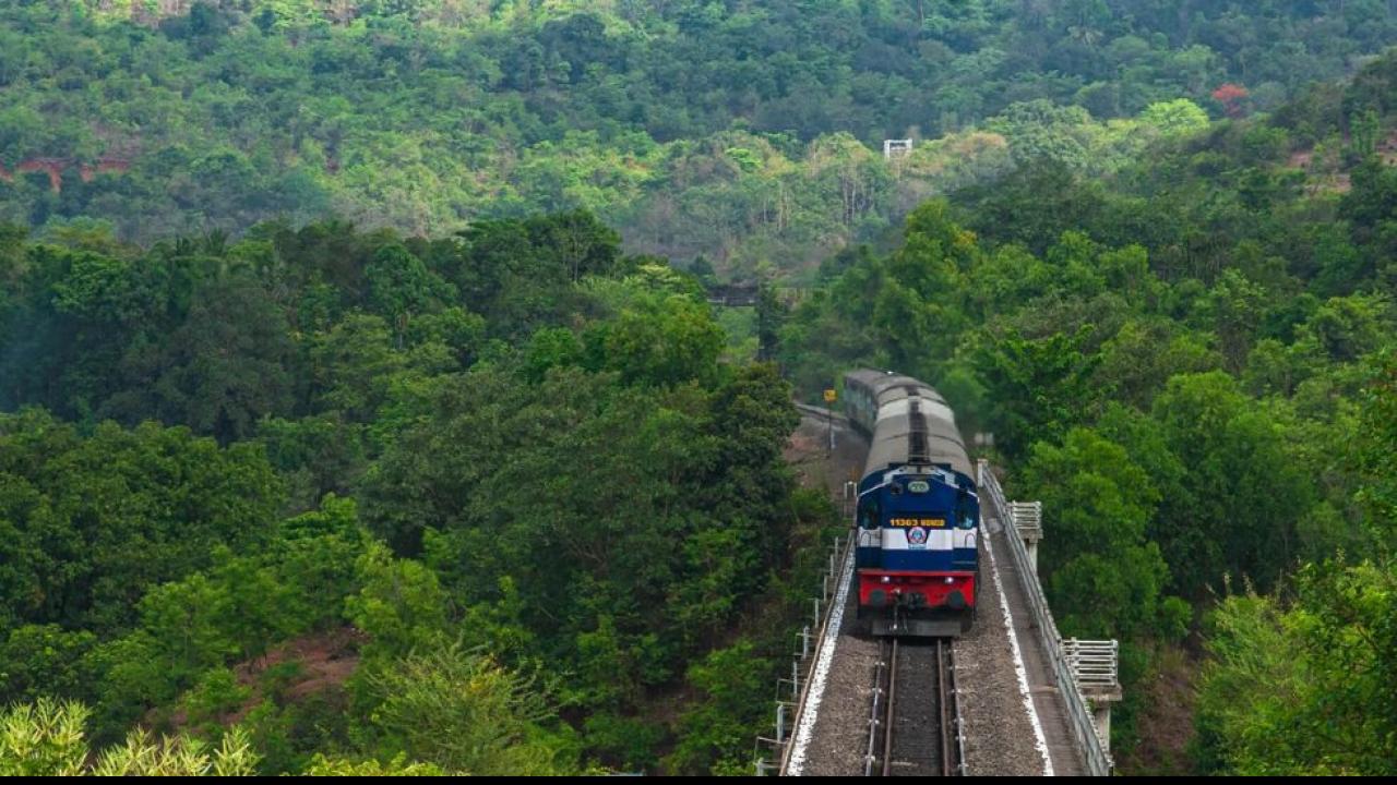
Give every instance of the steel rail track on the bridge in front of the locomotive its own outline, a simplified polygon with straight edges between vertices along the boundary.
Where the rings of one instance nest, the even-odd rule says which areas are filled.
[[[951,641],[891,638],[882,647],[873,673],[863,774],[965,774]]]

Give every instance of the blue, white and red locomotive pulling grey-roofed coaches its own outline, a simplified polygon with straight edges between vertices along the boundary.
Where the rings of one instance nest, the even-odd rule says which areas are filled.
[[[844,376],[844,405],[869,439],[854,520],[861,629],[964,634],[979,587],[979,496],[954,412],[929,384],[873,369]]]

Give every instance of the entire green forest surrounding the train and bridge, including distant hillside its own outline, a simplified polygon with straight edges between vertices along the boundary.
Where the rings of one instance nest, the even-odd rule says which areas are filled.
[[[750,772],[858,366],[1044,501],[1120,772],[1391,774],[1394,25],[4,4],[0,774]]]

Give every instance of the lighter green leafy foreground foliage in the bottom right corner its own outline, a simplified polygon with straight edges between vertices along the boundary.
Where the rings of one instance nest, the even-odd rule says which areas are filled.
[[[1362,562],[1309,564],[1287,598],[1246,591],[1208,617],[1199,698],[1199,753],[1229,774],[1390,775],[1397,761],[1397,362],[1370,366],[1359,409],[1355,494],[1382,543]],[[1379,471],[1373,471],[1379,468]],[[1267,684],[1257,690],[1256,684]]]

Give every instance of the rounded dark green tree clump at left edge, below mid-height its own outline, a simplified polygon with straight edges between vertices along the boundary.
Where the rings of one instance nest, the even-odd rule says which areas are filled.
[[[264,549],[281,487],[253,446],[154,423],[84,437],[27,412],[0,415],[0,624],[106,634],[217,548]]]

